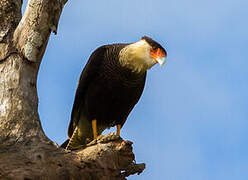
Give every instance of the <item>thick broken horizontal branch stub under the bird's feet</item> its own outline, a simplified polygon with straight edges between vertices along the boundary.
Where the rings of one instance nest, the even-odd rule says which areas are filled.
[[[51,143],[39,144],[25,154],[16,153],[20,149],[0,149],[0,178],[117,180],[139,174],[145,168],[145,164],[134,163],[132,143],[122,139],[98,142],[76,151],[57,148]]]

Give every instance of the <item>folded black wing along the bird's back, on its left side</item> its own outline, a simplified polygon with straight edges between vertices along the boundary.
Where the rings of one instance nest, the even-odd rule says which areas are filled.
[[[99,73],[104,54],[107,46],[101,46],[96,49],[90,56],[86,66],[84,67],[77,86],[77,91],[74,99],[74,104],[71,113],[71,121],[68,128],[68,136],[71,137],[74,128],[78,124],[80,119],[81,108],[83,107],[85,94],[89,87],[89,84]]]

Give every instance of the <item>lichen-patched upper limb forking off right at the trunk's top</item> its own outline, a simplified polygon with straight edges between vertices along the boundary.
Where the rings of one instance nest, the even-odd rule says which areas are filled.
[[[57,33],[58,21],[66,2],[67,0],[29,0],[14,33],[16,48],[29,61],[41,61],[51,31]]]

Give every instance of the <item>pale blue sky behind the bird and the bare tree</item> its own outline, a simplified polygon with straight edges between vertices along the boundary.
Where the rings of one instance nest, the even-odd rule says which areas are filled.
[[[247,0],[69,0],[38,77],[47,136],[66,132],[77,80],[99,46],[147,35],[168,52],[121,136],[146,170],[130,180],[247,180]],[[115,130],[115,129],[114,129]]]

